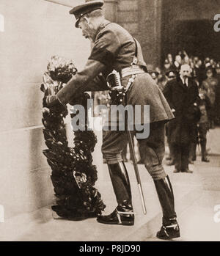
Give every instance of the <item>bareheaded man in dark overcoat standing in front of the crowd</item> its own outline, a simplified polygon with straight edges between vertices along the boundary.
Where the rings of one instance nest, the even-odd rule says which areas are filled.
[[[169,142],[172,144],[175,158],[174,172],[191,172],[188,169],[189,150],[191,142],[197,139],[199,92],[190,73],[189,65],[182,65],[180,75],[168,81],[164,88],[164,96],[175,114],[175,120],[168,124]]]

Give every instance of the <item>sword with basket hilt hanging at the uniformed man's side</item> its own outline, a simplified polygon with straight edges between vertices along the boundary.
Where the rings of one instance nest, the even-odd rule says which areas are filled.
[[[107,84],[108,84],[111,92],[112,91],[116,92],[117,98],[119,99],[119,103],[124,103],[126,106],[126,104],[127,104],[127,97],[126,97],[126,93],[125,93],[126,90],[125,90],[125,87],[122,87],[122,84],[120,81],[120,74],[117,72],[112,72],[109,74],[109,76],[107,76],[106,80],[107,80]],[[141,201],[142,201],[142,209],[143,209],[143,213],[147,214],[146,205],[145,205],[145,201],[144,201],[144,194],[143,194],[143,190],[142,190],[141,178],[139,175],[139,168],[136,163],[133,139],[131,136],[131,131],[129,131],[129,129],[128,129],[128,112],[127,111],[125,111],[125,124],[127,125],[126,131],[128,134],[128,144],[129,144],[129,148],[131,151],[131,160],[133,161],[133,167],[134,167],[134,172],[136,175],[136,181],[138,183],[139,194],[140,194]]]

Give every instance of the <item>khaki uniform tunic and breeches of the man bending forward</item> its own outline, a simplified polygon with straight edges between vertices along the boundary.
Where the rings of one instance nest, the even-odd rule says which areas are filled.
[[[131,67],[135,56],[137,56],[136,65],[139,65],[145,72],[136,75],[128,91],[128,104],[132,106],[150,105],[150,126],[153,129],[150,129],[150,136],[139,143],[146,152],[144,163],[147,170],[155,179],[164,178],[166,175],[161,166],[164,158],[164,123],[172,120],[174,116],[161,89],[147,73],[139,43],[135,43],[131,34],[122,26],[109,21],[101,24],[86,67],[73,76],[73,83],[70,82],[60,90],[57,97],[62,103],[68,103],[79,92],[106,90],[106,81],[103,78],[106,78],[112,70],[121,73],[122,69]],[[131,76],[122,78],[124,87],[128,84],[129,78]],[[143,113],[139,122],[144,124]],[[127,143],[126,131],[104,133],[102,152],[108,164],[122,161],[121,153],[125,143]]]

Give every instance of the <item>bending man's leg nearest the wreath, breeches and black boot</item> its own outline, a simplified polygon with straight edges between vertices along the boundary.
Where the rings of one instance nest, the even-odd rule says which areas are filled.
[[[127,169],[122,161],[122,150],[127,144],[126,131],[105,131],[102,152],[109,167],[109,175],[118,205],[110,215],[98,216],[98,222],[124,225],[134,223],[131,186]]]

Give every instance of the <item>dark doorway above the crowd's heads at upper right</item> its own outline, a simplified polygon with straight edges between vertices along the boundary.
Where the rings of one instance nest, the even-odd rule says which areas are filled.
[[[219,1],[219,0],[218,0]],[[199,1],[200,3],[202,2]],[[220,61],[220,32],[215,32],[213,16],[209,19],[186,18],[188,7],[191,12],[197,12],[198,2],[190,0],[162,0],[162,17],[161,17],[161,64],[167,54],[175,56],[178,51],[185,49],[189,55],[199,56],[202,59],[210,56]],[[205,6],[215,8],[215,4],[203,4]],[[183,10],[184,15],[181,15]],[[210,10],[209,10],[210,12]],[[214,12],[214,10],[213,10]],[[204,13],[203,13],[204,15]],[[183,17],[183,18],[181,18]]]

